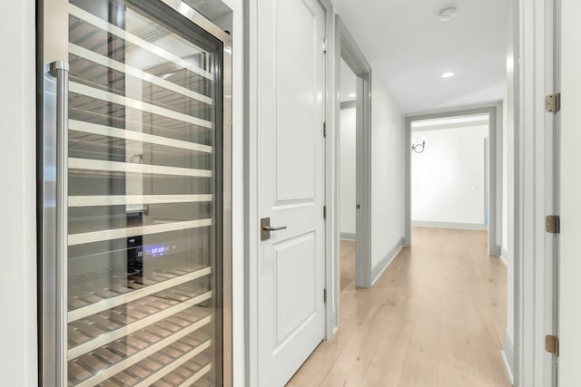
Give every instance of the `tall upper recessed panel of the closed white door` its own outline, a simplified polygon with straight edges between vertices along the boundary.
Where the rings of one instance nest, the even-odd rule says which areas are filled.
[[[277,4],[277,199],[314,199],[320,131],[320,36],[317,14],[302,1]],[[312,5],[311,5],[312,6]],[[315,5],[319,6],[320,5]],[[315,9],[316,11],[316,9]],[[293,17],[289,17],[293,15]],[[296,26],[300,25],[300,28]],[[291,32],[287,33],[287,32]],[[319,92],[319,93],[318,93]],[[292,176],[292,179],[289,177]]]

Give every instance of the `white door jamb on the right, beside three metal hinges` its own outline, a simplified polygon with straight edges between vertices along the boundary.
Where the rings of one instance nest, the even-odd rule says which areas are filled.
[[[554,385],[553,334],[555,237],[545,216],[555,209],[553,113],[545,96],[555,87],[555,0],[513,0],[515,9],[515,358],[517,387]]]

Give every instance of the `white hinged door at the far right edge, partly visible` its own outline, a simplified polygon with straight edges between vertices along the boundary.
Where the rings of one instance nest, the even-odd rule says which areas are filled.
[[[581,2],[562,0],[559,387],[581,386]]]

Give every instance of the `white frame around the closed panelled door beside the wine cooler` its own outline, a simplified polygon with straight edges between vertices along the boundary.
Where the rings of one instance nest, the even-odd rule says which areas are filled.
[[[328,40],[328,47],[332,48],[333,41],[333,6],[330,0],[319,0],[320,5],[325,10],[325,29]],[[244,9],[244,369],[245,380],[243,385],[258,385],[258,343],[260,332],[258,332],[258,261],[260,247],[260,214],[258,211],[258,73],[261,63],[257,60],[258,41],[258,18],[260,9],[257,0],[243,0]],[[262,15],[260,17],[267,17]],[[335,66],[331,53],[327,53],[325,58],[325,117],[328,128],[332,131],[334,124],[334,100],[335,93]],[[329,125],[330,123],[330,125]],[[321,128],[322,130],[322,128]],[[326,148],[329,137],[326,139]],[[329,151],[325,158],[325,176],[329,175]],[[326,183],[325,198],[329,206],[330,192]],[[330,250],[329,243],[330,222],[326,225],[325,237],[325,284],[329,289],[330,276]],[[325,337],[329,338],[333,333],[330,329],[330,313],[328,302],[325,306]],[[236,381],[234,381],[236,384]]]

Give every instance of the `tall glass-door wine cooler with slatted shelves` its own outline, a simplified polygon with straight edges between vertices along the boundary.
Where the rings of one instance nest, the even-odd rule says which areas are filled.
[[[231,385],[231,38],[196,3],[39,3],[43,386]]]

